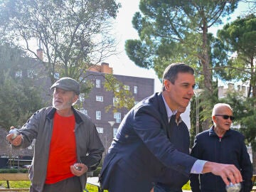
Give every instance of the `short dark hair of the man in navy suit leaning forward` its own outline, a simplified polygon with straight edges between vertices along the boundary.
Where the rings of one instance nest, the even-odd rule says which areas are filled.
[[[190,73],[194,74],[193,68],[184,64],[184,63],[171,63],[165,70],[163,74],[163,87],[162,90],[165,90],[164,80],[169,80],[172,84],[174,84],[178,73]]]

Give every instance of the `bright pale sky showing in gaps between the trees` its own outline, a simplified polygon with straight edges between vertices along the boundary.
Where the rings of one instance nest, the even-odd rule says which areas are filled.
[[[127,39],[139,39],[137,35],[137,31],[132,27],[132,18],[135,12],[139,11],[139,0],[117,0],[117,2],[122,4],[122,8],[119,9],[119,13],[117,14],[117,18],[115,20],[115,24],[113,26],[113,30],[118,45],[119,55],[112,55],[110,58],[102,61],[105,63],[109,63],[110,67],[113,68],[114,75],[127,75],[127,76],[136,76],[141,78],[153,78],[154,79],[154,91],[161,92],[161,82],[159,78],[157,78],[154,70],[147,70],[144,68],[139,68],[137,65],[133,63],[132,60],[129,60],[128,56],[124,50],[124,43]],[[238,9],[232,14],[231,19],[229,21],[223,20],[224,23],[231,22],[237,18],[240,14],[242,14],[247,8],[247,4],[240,4]],[[215,26],[210,28],[210,33],[215,33],[218,29],[222,28],[222,26]],[[190,105],[188,105],[186,112],[181,114],[183,121],[187,124],[188,129],[190,129]]]

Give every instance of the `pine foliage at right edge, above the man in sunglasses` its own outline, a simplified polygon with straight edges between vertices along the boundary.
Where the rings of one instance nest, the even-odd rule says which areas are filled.
[[[250,81],[255,86],[255,66],[253,60],[256,56],[256,17],[249,15],[237,18],[226,24],[218,31],[218,46],[215,48],[215,57],[219,62],[217,72],[224,80]],[[230,60],[230,54],[235,57]]]

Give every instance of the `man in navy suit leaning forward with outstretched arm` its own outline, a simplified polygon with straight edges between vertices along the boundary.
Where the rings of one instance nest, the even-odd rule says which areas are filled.
[[[186,177],[211,172],[227,185],[228,178],[232,183],[242,181],[235,166],[198,160],[178,151],[169,140],[171,116],[178,107],[187,107],[193,97],[193,73],[193,68],[183,63],[169,65],[162,91],[139,102],[124,117],[105,156],[100,174],[102,189],[147,192],[169,170]],[[163,184],[174,179],[171,175]]]

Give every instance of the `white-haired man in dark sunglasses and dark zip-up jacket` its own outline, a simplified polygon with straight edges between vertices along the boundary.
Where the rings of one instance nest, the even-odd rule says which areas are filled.
[[[242,192],[252,189],[252,164],[244,142],[244,136],[230,126],[235,119],[230,105],[218,103],[212,112],[213,126],[196,135],[191,156],[220,164],[234,164],[242,174]],[[191,189],[198,191],[225,191],[220,176],[191,174]]]

